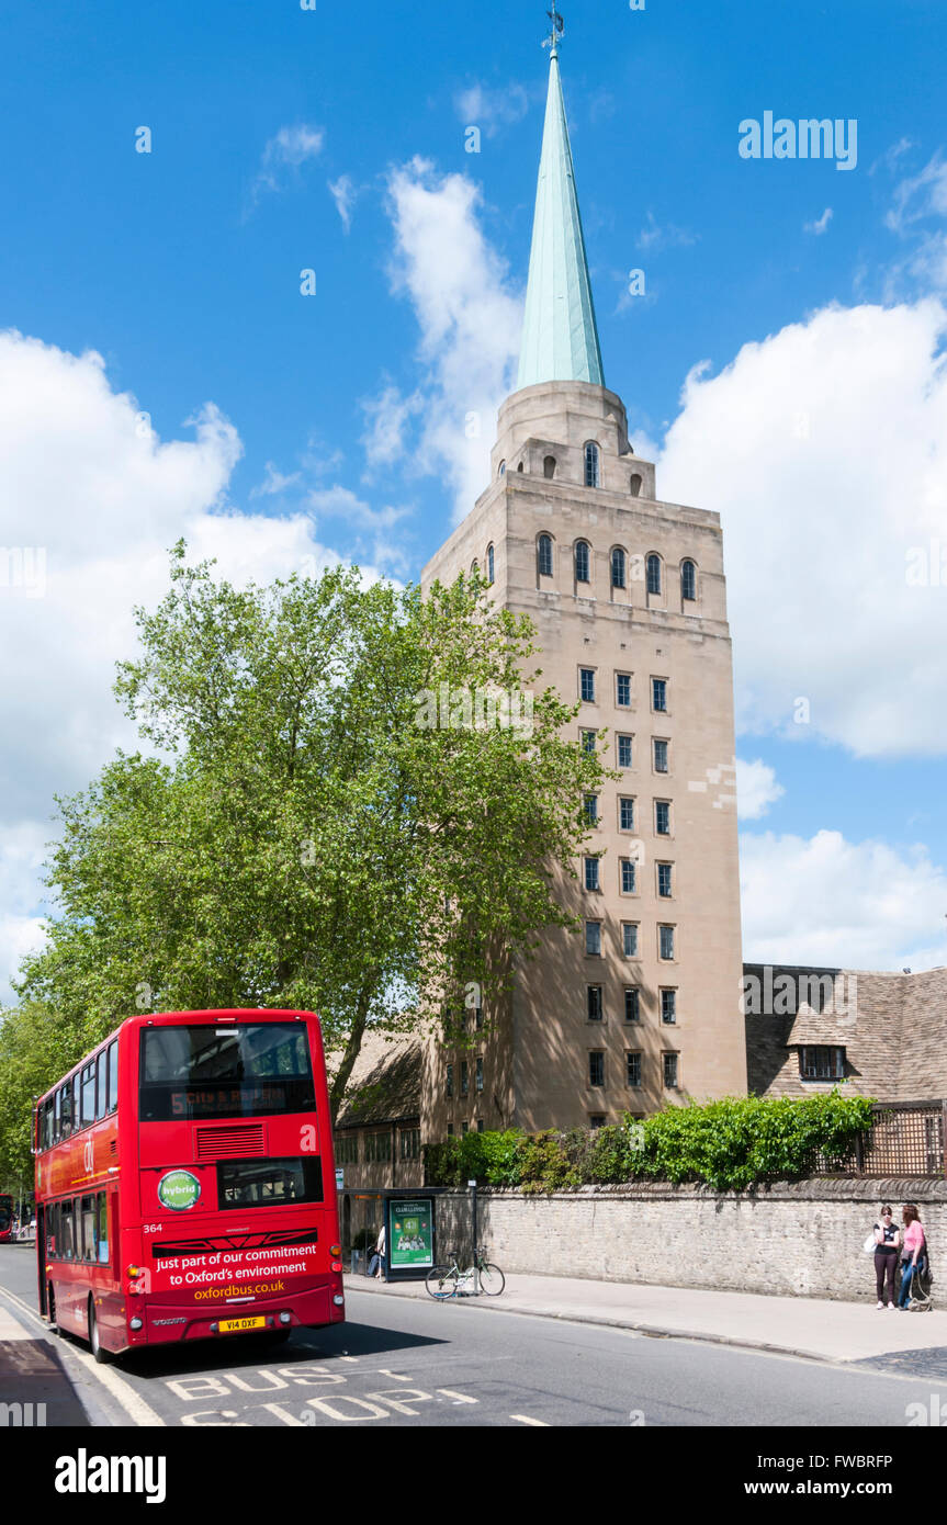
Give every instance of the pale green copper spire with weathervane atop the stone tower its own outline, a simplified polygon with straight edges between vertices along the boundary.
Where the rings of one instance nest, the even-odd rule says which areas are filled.
[[[563,30],[551,11],[549,99],[543,157],[535,197],[526,317],[517,387],[538,381],[593,381],[604,386],[583,220],[560,81],[558,41]]]

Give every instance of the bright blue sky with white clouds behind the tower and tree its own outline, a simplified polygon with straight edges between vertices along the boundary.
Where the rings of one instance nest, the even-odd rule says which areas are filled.
[[[485,485],[544,27],[522,0],[0,20],[0,329],[23,336],[0,361],[0,540],[50,567],[43,599],[0,608],[20,653],[0,962],[35,939],[52,790],[124,740],[111,660],[162,547],[412,578]],[[947,8],[570,0],[566,29],[605,380],[659,493],[724,523],[747,955],[947,962],[947,589],[904,586],[910,547],[947,543]],[[741,159],[767,110],[856,119],[856,168]],[[137,413],[154,433],[125,454]]]

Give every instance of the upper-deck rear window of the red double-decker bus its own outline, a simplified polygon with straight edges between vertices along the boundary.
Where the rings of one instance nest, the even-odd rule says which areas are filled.
[[[310,1045],[297,1022],[174,1023],[142,1032],[142,1122],[314,1107]]]

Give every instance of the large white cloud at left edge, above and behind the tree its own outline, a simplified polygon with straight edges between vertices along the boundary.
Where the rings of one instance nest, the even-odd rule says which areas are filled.
[[[168,547],[183,535],[192,560],[215,557],[235,583],[340,560],[307,512],[227,503],[241,442],[218,409],[189,429],[160,441],[140,403],[111,390],[101,355],[0,334],[0,544],[46,552],[43,596],[0,584],[0,979],[38,938],[37,866],[53,827],[37,822],[53,793],[137,743],[111,694],[114,663],[136,651],[133,607],[166,590]]]

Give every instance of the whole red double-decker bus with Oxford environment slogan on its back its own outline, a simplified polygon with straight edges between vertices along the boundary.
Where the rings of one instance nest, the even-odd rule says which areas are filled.
[[[96,1360],[345,1318],[319,1019],[128,1017],[35,1110],[40,1308]]]

